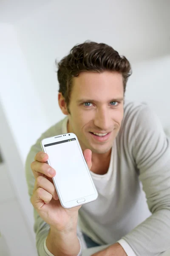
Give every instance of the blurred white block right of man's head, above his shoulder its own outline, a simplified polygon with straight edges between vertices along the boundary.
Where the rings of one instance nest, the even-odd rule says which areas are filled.
[[[126,98],[147,102],[170,133],[170,53],[133,64]]]

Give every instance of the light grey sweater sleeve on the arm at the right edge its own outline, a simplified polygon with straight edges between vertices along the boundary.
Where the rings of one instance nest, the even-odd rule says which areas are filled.
[[[132,155],[152,215],[123,239],[136,256],[158,256],[170,248],[170,142],[147,105],[133,123]]]

